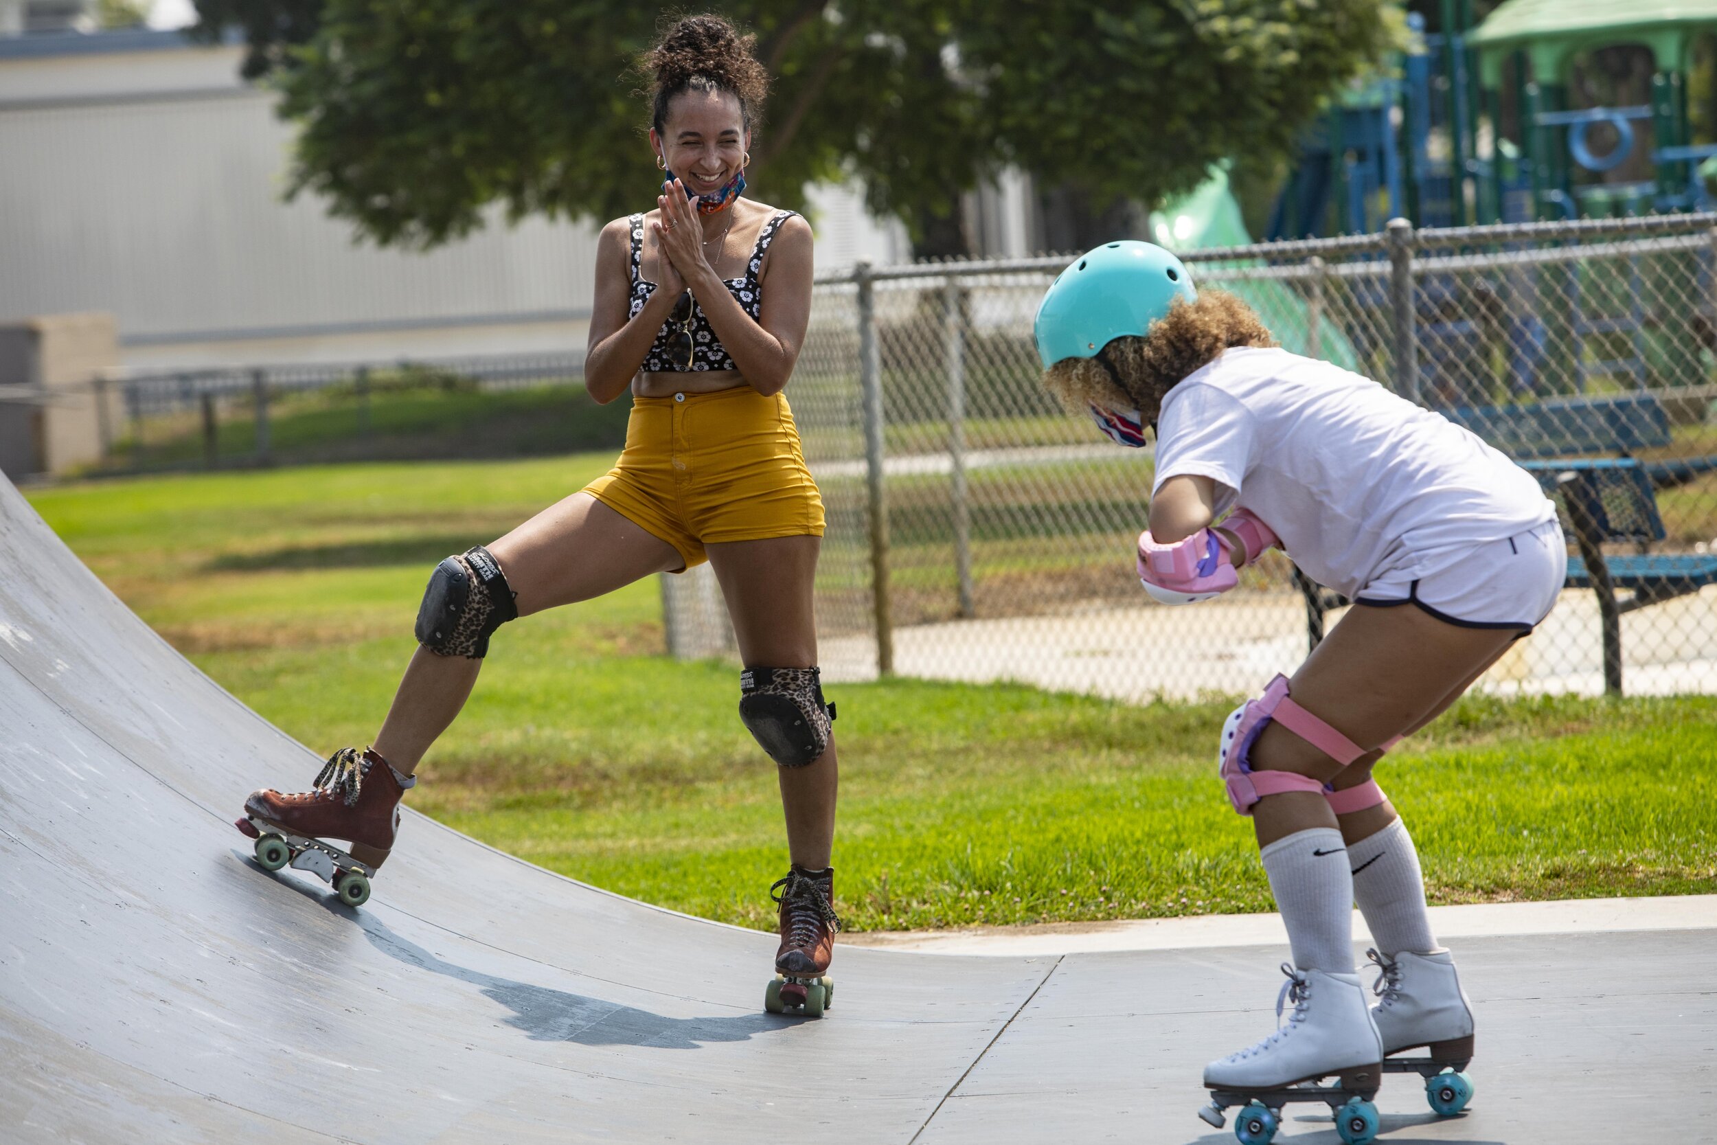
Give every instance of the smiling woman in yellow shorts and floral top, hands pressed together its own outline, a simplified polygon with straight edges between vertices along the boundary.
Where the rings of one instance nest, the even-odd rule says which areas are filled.
[[[821,1013],[840,920],[833,910],[836,762],[817,683],[812,580],[822,498],[781,393],[810,321],[810,227],[740,196],[767,72],[752,38],[709,15],[675,24],[649,55],[656,209],[598,242],[585,386],[632,391],[627,446],[608,476],[500,541],[450,556],[429,579],[419,649],[374,745],[342,748],[316,788],[246,803],[249,824],[347,839],[374,869],[398,802],[515,616],[601,596],[707,560],[745,671],[740,718],[780,764],[792,867],[769,1008]],[[240,826],[246,826],[244,821]]]

